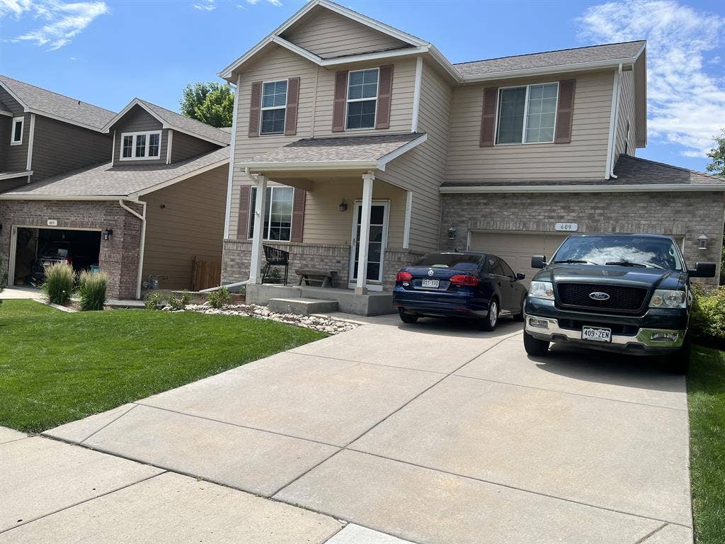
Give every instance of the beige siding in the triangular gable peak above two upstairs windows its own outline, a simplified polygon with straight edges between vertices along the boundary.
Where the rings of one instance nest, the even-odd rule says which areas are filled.
[[[410,46],[321,7],[312,9],[282,37],[323,59]]]

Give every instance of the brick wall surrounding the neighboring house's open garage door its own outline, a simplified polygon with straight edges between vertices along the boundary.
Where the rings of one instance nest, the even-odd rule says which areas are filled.
[[[140,205],[128,203],[141,213]],[[99,266],[109,276],[108,297],[133,299],[138,279],[138,252],[141,221],[123,210],[118,202],[70,200],[3,200],[0,202],[0,252],[3,269],[8,271],[12,226],[48,228],[56,219],[57,228],[102,230],[112,228],[111,239],[101,239]]]

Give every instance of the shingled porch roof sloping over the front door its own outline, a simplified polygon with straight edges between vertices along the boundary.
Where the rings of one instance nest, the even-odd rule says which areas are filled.
[[[254,172],[385,170],[385,165],[428,139],[426,133],[305,138],[236,162]]]

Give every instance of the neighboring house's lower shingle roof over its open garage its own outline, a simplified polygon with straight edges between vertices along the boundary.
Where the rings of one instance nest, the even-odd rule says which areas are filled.
[[[170,165],[114,167],[112,163],[107,162],[11,189],[0,194],[0,199],[8,196],[14,199],[38,198],[43,195],[49,197],[125,197],[228,159],[229,147],[222,147],[216,151]]]

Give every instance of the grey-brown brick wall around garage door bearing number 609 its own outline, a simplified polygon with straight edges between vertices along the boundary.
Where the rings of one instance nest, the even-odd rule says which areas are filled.
[[[719,268],[724,217],[722,192],[444,194],[440,244],[460,250],[468,231],[554,232],[554,223],[571,222],[579,223],[580,233],[684,236],[689,265],[714,261]],[[455,240],[448,239],[449,222],[456,228]],[[697,249],[703,232],[710,239],[704,251]]]

